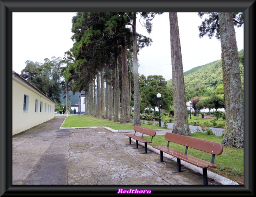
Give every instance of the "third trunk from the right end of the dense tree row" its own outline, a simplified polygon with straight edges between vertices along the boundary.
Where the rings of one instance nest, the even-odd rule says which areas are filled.
[[[115,56],[115,87],[116,87],[116,106],[115,106],[115,119],[114,122],[120,122],[120,88],[119,88],[119,69],[118,69],[118,56]]]

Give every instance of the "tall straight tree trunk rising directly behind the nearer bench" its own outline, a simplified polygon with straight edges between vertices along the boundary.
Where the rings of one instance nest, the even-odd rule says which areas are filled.
[[[172,87],[173,87],[172,94],[173,94],[173,111],[174,111],[174,122],[173,122],[172,133],[188,136],[188,135],[191,135],[191,132],[188,125],[177,12],[169,12],[169,20],[170,20],[170,37],[171,37]]]

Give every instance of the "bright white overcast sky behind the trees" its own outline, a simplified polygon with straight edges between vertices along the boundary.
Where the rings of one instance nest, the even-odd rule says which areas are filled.
[[[12,69],[21,74],[27,60],[44,63],[44,58],[64,57],[73,47],[74,12],[13,12]],[[139,15],[138,15],[139,16]],[[221,59],[220,41],[215,37],[199,38],[202,20],[197,12],[178,13],[183,71]],[[169,13],[156,15],[150,34],[137,21],[137,33],[152,38],[152,45],[139,51],[139,74],[172,78]],[[244,49],[244,27],[235,28],[238,51]]]

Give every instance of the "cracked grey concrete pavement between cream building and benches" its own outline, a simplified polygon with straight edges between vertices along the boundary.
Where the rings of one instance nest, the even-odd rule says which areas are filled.
[[[183,163],[187,171],[172,173],[177,169],[175,159],[156,163],[160,156],[150,144],[151,153],[141,154],[144,148],[134,149],[121,132],[60,129],[64,119],[55,116],[12,137],[13,185],[203,184],[201,168]],[[208,178],[209,185],[238,185],[210,171]]]

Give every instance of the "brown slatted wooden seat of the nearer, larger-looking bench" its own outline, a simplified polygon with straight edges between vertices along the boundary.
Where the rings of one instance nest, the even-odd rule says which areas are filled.
[[[179,158],[183,161],[186,161],[190,164],[196,165],[197,167],[200,168],[208,168],[208,167],[212,167],[212,168],[216,168],[217,165],[216,164],[212,164],[211,162],[199,159],[197,157],[193,157],[191,155],[185,154],[183,152],[180,152],[178,150],[173,150],[171,148],[168,148],[166,146],[163,145],[153,145],[153,148],[163,151],[164,153],[167,153],[169,155],[172,155],[173,157]]]

